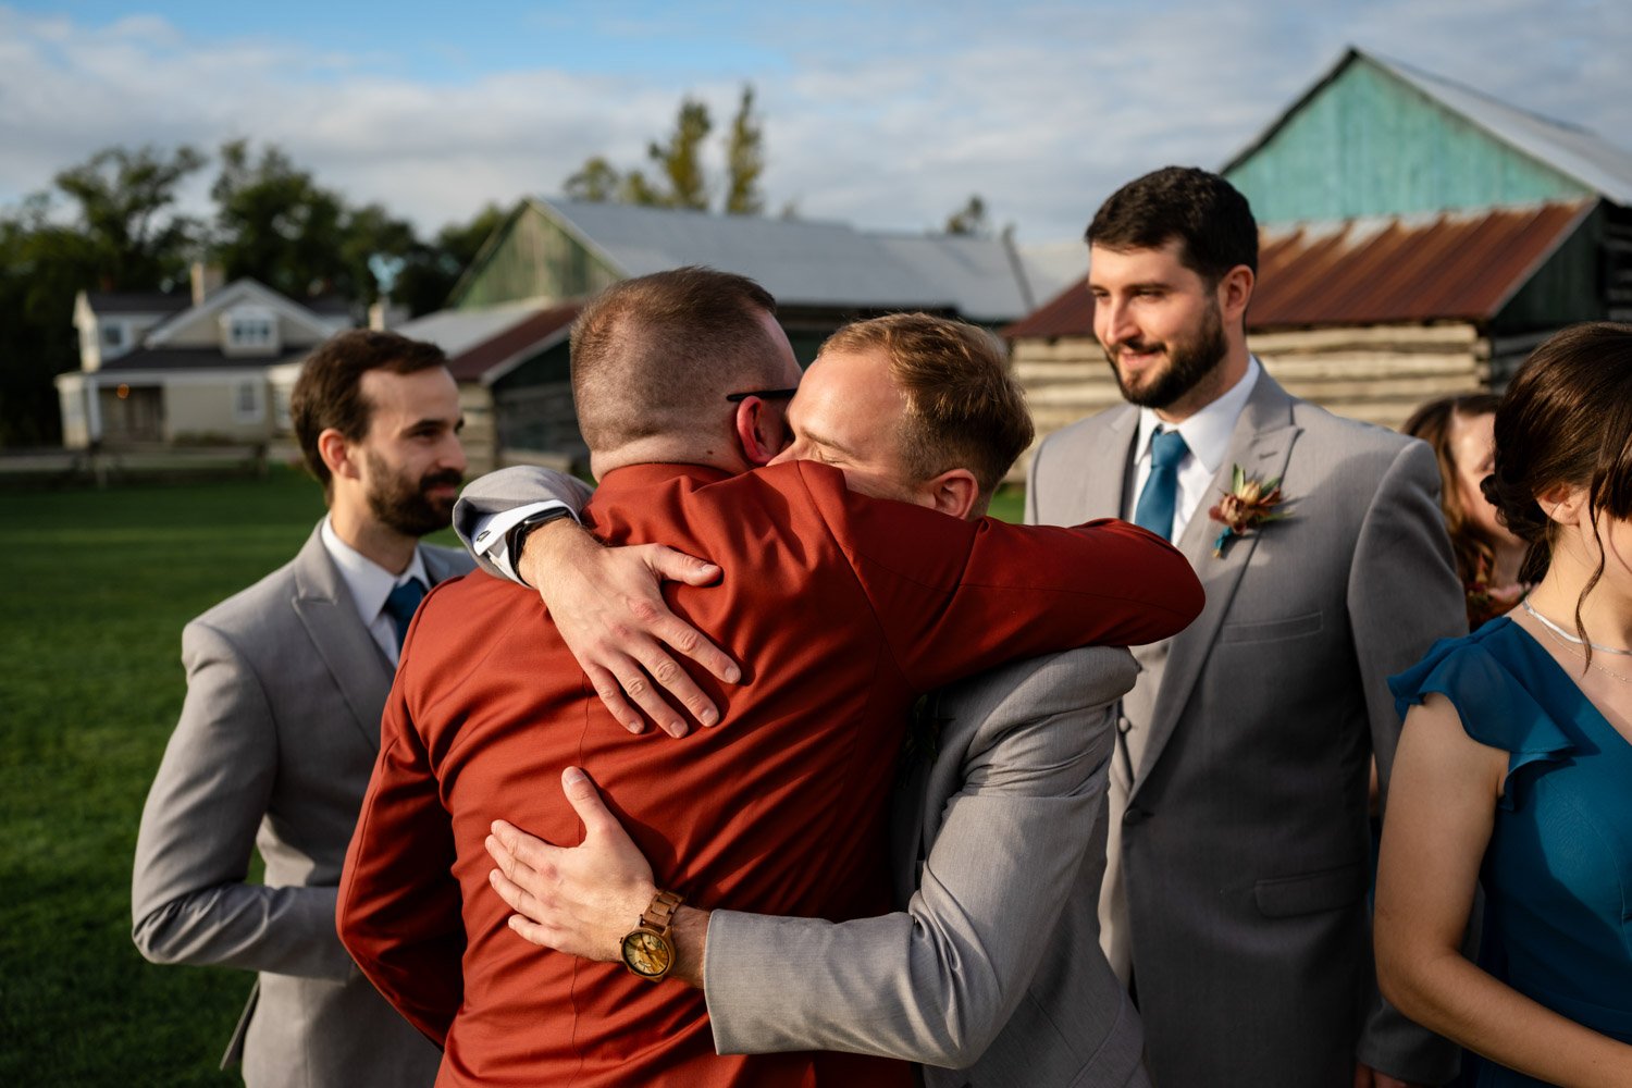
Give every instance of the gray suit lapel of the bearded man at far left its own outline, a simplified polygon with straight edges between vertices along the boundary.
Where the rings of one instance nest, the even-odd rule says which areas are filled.
[[[357,605],[328,558],[320,530],[295,556],[294,610],[328,672],[335,677],[353,724],[380,747],[380,708],[392,690],[392,664],[357,618]]]

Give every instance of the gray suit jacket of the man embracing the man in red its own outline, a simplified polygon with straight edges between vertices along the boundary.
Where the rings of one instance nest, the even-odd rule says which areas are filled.
[[[840,925],[716,910],[716,1049],[902,1057],[948,1088],[1146,1085],[1095,918],[1111,710],[1136,674],[1128,651],[1090,648],[932,697],[938,750],[893,822],[906,910]]]

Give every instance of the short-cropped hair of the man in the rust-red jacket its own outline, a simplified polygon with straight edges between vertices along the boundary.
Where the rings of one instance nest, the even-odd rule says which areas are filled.
[[[573,323],[573,400],[591,450],[725,418],[728,385],[778,374],[761,325],[764,287],[712,268],[677,268],[607,287]]]

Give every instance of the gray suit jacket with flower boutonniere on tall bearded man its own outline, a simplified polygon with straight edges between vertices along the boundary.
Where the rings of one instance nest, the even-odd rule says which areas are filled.
[[[1129,511],[1136,431],[1121,406],[1051,436],[1027,519]],[[1263,374],[1219,493],[1232,465],[1281,476],[1291,519],[1214,558],[1196,511],[1178,546],[1208,604],[1138,651],[1121,726],[1146,731],[1142,759],[1111,768],[1128,920],[1105,936],[1131,956],[1151,1078],[1338,1086],[1358,1059],[1441,1083],[1454,1049],[1376,1003],[1366,910],[1368,765],[1386,788],[1400,729],[1384,679],[1464,626],[1433,453]]]

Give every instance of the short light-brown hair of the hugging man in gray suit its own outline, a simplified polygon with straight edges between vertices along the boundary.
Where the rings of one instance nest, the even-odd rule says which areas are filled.
[[[824,352],[871,349],[889,357],[904,403],[896,431],[902,467],[917,483],[968,468],[984,506],[1035,434],[997,339],[950,318],[891,313],[845,325],[823,344]]]

